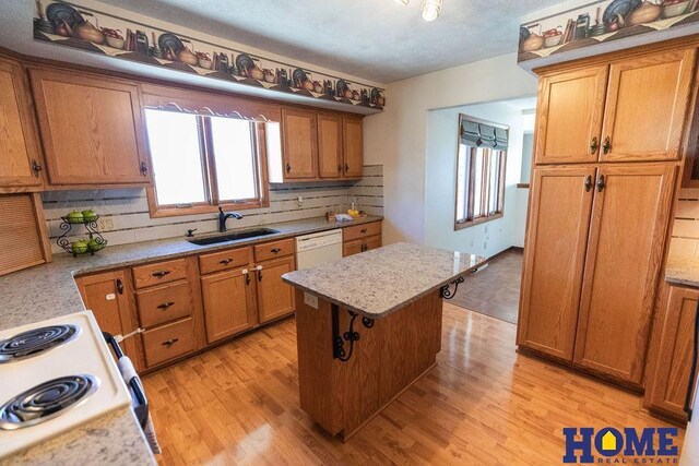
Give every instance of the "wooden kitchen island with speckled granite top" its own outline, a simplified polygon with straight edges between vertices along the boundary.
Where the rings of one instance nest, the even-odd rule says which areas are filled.
[[[291,272],[301,408],[350,439],[437,363],[442,297],[486,260],[395,243]]]

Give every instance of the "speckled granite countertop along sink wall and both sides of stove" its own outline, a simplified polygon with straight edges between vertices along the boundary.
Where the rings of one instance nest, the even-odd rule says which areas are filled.
[[[127,267],[201,252],[211,252],[291,238],[317,231],[381,220],[367,216],[353,222],[328,222],[324,217],[264,225],[280,232],[259,238],[196,246],[182,238],[108,247],[95,255],[73,258],[56,254],[50,264],[0,276],[0,330],[52,319],[85,309],[78,291],[76,275]],[[229,229],[228,232],[235,231]],[[205,238],[215,235],[197,236]],[[128,410],[105,415],[31,447],[0,464],[155,464],[140,426]]]

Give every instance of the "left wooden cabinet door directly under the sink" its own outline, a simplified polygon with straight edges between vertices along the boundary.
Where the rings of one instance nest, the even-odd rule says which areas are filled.
[[[258,323],[254,276],[244,271],[237,268],[201,278],[209,343],[252,328]]]

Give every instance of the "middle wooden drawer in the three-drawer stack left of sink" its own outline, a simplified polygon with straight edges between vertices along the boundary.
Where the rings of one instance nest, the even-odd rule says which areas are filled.
[[[141,326],[154,327],[192,313],[192,291],[188,282],[137,291]]]

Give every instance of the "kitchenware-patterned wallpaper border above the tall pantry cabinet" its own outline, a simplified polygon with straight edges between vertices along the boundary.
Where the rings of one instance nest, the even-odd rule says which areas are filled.
[[[597,0],[520,25],[518,62],[699,22],[699,0]]]

